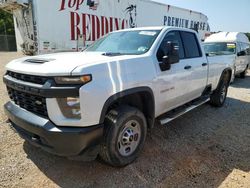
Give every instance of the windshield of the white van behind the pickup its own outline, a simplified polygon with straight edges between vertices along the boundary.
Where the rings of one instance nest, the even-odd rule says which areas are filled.
[[[205,52],[209,55],[231,55],[236,53],[235,43],[204,43]]]

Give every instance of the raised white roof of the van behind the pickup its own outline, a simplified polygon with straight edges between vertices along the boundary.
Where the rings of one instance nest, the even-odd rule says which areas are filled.
[[[249,43],[247,36],[240,32],[219,32],[206,38],[205,42],[244,42]]]

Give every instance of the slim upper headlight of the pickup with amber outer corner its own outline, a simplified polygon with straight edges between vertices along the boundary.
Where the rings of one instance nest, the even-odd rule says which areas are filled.
[[[57,84],[86,84],[92,80],[91,75],[55,77]]]

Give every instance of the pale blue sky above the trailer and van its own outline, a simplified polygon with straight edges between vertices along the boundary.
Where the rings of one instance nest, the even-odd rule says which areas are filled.
[[[250,32],[250,0],[154,0],[201,12],[211,31]]]

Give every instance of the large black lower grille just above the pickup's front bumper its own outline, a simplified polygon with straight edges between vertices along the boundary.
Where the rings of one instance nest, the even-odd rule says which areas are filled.
[[[9,97],[14,103],[34,114],[48,117],[46,99],[37,95],[24,93],[7,87]]]

